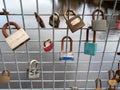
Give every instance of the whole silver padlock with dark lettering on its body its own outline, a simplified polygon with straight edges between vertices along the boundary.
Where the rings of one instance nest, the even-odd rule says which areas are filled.
[[[34,67],[33,67],[34,65]],[[29,68],[27,69],[27,77],[29,79],[38,79],[40,78],[39,64],[37,60],[32,60],[29,63]]]

